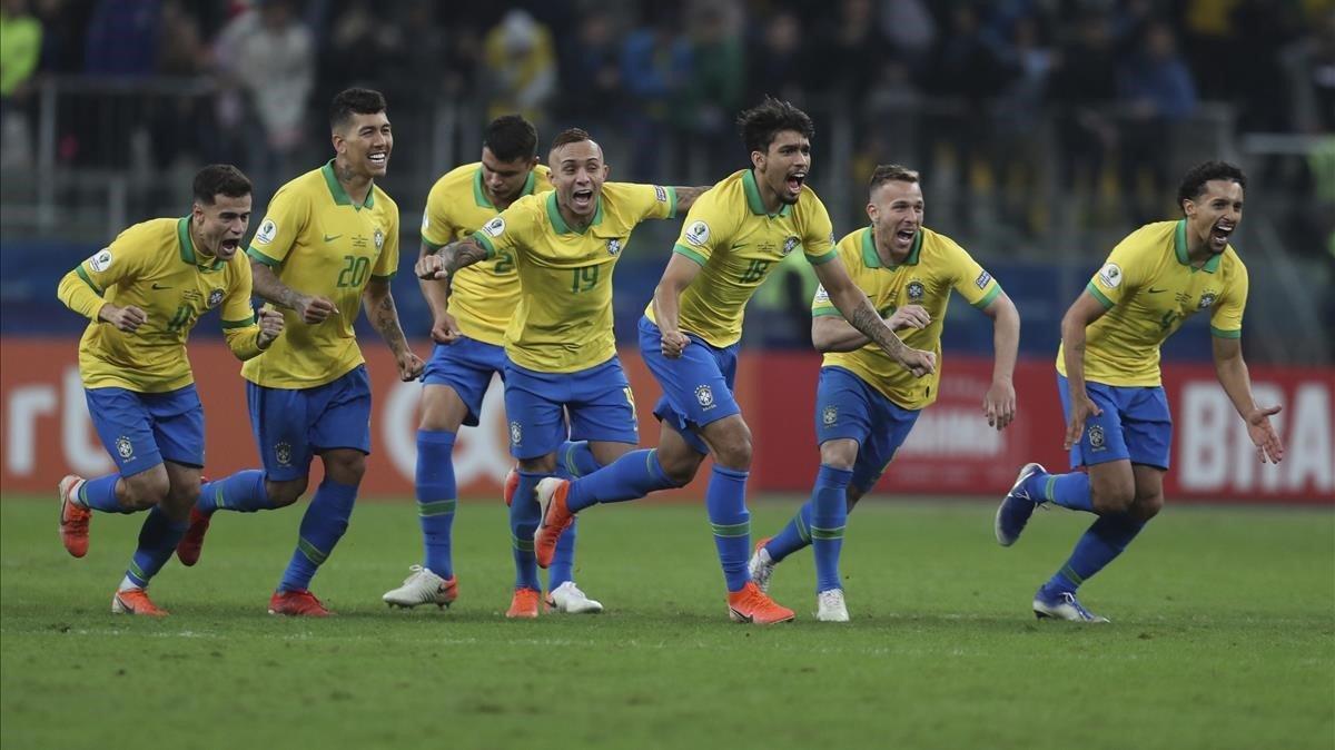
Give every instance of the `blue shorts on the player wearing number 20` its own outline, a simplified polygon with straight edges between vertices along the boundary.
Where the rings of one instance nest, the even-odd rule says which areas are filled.
[[[246,383],[246,400],[264,476],[272,482],[306,476],[320,451],[371,452],[371,379],[364,364],[314,388]]]

